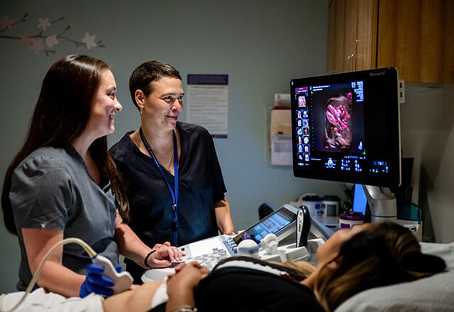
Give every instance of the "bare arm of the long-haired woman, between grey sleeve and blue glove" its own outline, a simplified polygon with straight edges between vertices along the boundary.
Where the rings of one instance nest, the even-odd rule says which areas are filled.
[[[28,266],[31,273],[35,274],[46,252],[63,239],[63,231],[45,228],[21,228],[21,230],[23,244],[26,247]],[[85,277],[62,265],[62,248],[55,250],[48,261],[45,262],[38,279],[38,285],[47,291],[63,296],[79,296],[80,286]]]

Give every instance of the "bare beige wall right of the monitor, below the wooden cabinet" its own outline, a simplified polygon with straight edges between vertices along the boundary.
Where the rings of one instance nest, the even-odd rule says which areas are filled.
[[[423,238],[454,241],[454,84],[407,84],[401,106],[402,152],[414,157],[413,201]]]

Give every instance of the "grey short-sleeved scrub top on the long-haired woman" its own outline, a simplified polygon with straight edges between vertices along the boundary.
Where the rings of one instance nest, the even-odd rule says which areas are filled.
[[[90,177],[74,147],[41,147],[28,155],[11,177],[9,199],[21,248],[18,291],[26,290],[32,274],[21,228],[63,230],[63,238],[80,238],[94,251],[118,264],[114,241],[116,208],[110,182]],[[63,247],[62,264],[79,274],[92,263],[77,244]],[[35,286],[37,288],[37,286]]]

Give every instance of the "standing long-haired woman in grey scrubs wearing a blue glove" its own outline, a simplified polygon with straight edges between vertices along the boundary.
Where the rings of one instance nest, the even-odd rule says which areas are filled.
[[[153,253],[126,224],[128,201],[106,139],[121,108],[114,75],[101,60],[69,55],[45,75],[1,194],[4,223],[21,247],[18,290],[26,289],[50,247],[68,237],[81,238],[114,264],[118,252],[143,267],[181,258],[175,247]],[[66,245],[45,263],[38,284],[64,296],[111,294],[102,282],[86,279],[90,263],[82,248]]]

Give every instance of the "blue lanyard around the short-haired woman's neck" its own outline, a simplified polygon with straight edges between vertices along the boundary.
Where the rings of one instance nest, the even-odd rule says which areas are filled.
[[[164,171],[162,171],[161,165],[159,165],[159,162],[157,161],[157,158],[155,154],[153,153],[153,150],[151,150],[150,145],[148,145],[147,139],[145,139],[145,135],[143,135],[142,128],[139,130],[140,133],[140,138],[142,139],[143,145],[145,145],[146,149],[148,150],[148,154],[150,154],[150,157],[153,158],[155,161],[157,169],[161,172],[162,177],[165,180],[165,183],[167,183],[167,186],[169,187],[170,194],[172,195],[172,209],[173,209],[173,216],[172,216],[172,245],[178,246],[178,211],[177,211],[177,202],[178,202],[178,145],[177,145],[177,136],[175,135],[175,130],[173,131],[173,165],[175,169],[175,193],[172,190],[172,187],[170,187],[169,182],[167,181],[167,178],[165,177]]]

